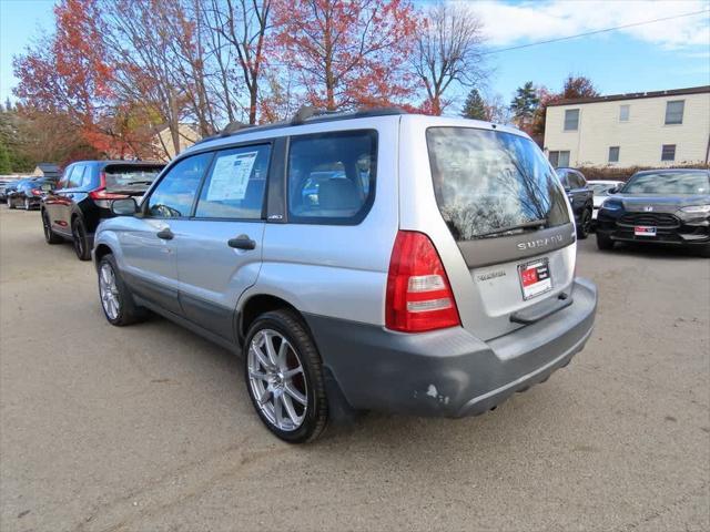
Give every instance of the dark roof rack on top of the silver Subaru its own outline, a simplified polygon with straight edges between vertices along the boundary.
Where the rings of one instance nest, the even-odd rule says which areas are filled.
[[[250,125],[239,121],[230,122],[220,133],[211,136],[205,136],[201,141],[197,141],[195,144],[202,144],[203,142],[214,141],[215,139],[223,139],[232,135],[239,135],[242,133],[275,130],[278,127],[303,125],[306,123],[312,124],[318,122],[327,122],[331,120],[352,120],[365,119],[371,116],[390,116],[397,114],[407,114],[407,112],[399,108],[373,108],[361,109],[357,111],[328,111],[325,109],[316,109],[312,105],[303,105],[288,121],[274,122],[263,125]]]

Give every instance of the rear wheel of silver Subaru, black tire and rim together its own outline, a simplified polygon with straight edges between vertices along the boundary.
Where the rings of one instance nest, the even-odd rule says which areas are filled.
[[[288,443],[318,438],[328,418],[321,356],[303,320],[287,309],[265,313],[244,342],[244,378],[256,413]]]

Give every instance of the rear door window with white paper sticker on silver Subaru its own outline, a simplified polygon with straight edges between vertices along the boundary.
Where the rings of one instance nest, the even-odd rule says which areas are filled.
[[[268,145],[219,152],[202,186],[195,216],[260,219],[270,153]]]

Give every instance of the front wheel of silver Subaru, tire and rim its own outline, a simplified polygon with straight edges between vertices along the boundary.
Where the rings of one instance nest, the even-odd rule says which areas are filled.
[[[133,301],[133,295],[125,286],[111,254],[104,255],[99,262],[99,298],[111,325],[123,327],[145,318],[145,310]]]

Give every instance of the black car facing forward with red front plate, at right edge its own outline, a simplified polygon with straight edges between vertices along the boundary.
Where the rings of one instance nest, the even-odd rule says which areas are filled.
[[[710,172],[637,172],[604,202],[597,216],[597,246],[616,242],[672,244],[710,257]]]

